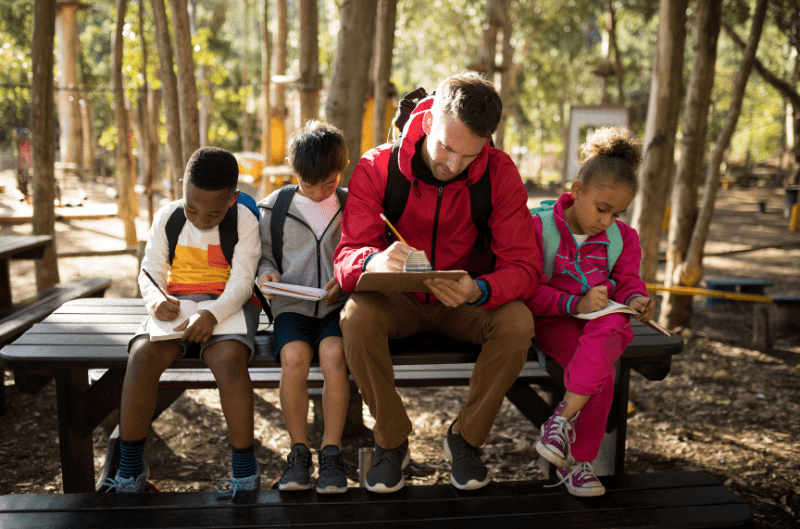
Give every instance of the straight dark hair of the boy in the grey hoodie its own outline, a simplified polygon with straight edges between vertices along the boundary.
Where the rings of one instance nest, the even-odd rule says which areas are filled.
[[[289,138],[287,160],[303,182],[310,185],[322,183],[347,167],[344,134],[333,125],[309,120]]]

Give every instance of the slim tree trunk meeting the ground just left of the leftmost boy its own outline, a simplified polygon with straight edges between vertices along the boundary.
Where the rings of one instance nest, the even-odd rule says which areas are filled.
[[[117,188],[119,189],[119,213],[125,226],[125,244],[128,248],[136,246],[136,214],[138,199],[134,192],[136,177],[133,173],[130,142],[130,119],[125,105],[125,85],[122,82],[122,28],[125,25],[125,12],[128,0],[117,0],[117,26],[114,29],[111,49],[111,75],[114,78],[114,105],[117,119]]]

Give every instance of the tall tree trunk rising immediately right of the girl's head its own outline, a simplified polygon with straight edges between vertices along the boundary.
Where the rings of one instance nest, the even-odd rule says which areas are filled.
[[[656,277],[658,246],[667,192],[675,164],[675,131],[682,92],[683,48],[686,40],[688,0],[661,0],[658,38],[647,108],[647,126],[639,193],[636,196],[633,227],[642,246],[640,273],[645,282]]]

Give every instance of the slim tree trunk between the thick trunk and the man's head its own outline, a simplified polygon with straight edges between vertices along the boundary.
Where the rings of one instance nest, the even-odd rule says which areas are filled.
[[[394,55],[394,31],[397,20],[397,0],[380,0],[378,3],[377,27],[375,28],[375,71],[373,92],[375,112],[372,120],[373,145],[386,141],[386,105],[392,75],[392,56]]]

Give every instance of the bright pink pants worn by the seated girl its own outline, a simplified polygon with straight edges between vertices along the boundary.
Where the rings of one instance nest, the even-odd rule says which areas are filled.
[[[614,398],[614,363],[633,340],[630,316],[609,314],[594,320],[551,316],[536,318],[536,343],[564,368],[564,386],[589,395],[575,421],[572,456],[593,461]]]

